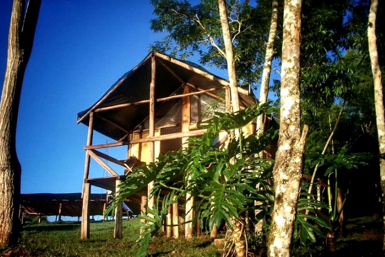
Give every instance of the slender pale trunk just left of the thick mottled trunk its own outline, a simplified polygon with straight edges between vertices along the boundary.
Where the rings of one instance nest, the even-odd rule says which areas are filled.
[[[265,64],[264,71],[262,73],[261,80],[261,90],[260,90],[260,103],[266,103],[268,101],[269,94],[269,82],[270,82],[270,73],[272,70],[272,60],[274,55],[274,41],[276,38],[277,32],[277,20],[278,20],[278,0],[273,0],[273,9],[272,9],[272,20],[270,23],[270,32],[269,39],[266,45],[266,55],[265,55]],[[262,135],[265,132],[265,119],[266,115],[262,114],[256,119],[256,130],[259,135]]]

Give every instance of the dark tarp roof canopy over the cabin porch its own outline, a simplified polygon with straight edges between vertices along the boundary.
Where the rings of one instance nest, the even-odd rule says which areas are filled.
[[[212,91],[214,94],[218,94],[219,90],[223,93],[223,88],[228,86],[228,81],[209,73],[199,65],[173,59],[160,53],[151,53],[134,69],[125,73],[95,104],[79,112],[78,123],[88,125],[89,114],[94,112],[93,129],[114,140],[121,139],[127,135],[127,132],[131,133],[139,127],[147,129],[149,105],[146,100],[150,99],[152,58],[155,58],[156,63],[156,99],[182,94],[183,86],[186,84],[192,85],[190,92],[218,89],[218,91]],[[255,103],[255,99],[249,96],[247,90],[239,88],[238,92],[243,106]],[[195,104],[197,105],[215,99],[207,94],[199,94],[191,98],[196,99]],[[180,102],[181,98],[155,101],[156,127],[170,123],[178,124],[180,120],[178,120],[177,113],[180,113],[178,111],[181,106]],[[108,110],[101,109],[120,104],[124,106]],[[191,107],[191,109],[191,120],[199,122],[200,114],[193,113],[193,110],[197,108]]]

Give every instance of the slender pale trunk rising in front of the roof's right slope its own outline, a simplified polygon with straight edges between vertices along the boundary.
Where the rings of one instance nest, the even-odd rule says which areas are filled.
[[[230,86],[231,93],[231,106],[232,111],[239,110],[239,98],[238,98],[238,89],[236,85],[236,76],[235,76],[235,61],[234,54],[232,51],[232,40],[230,35],[230,28],[228,26],[227,20],[227,9],[225,0],[218,0],[219,15],[220,15],[220,25],[222,27],[223,33],[223,42],[226,51],[226,62],[227,62],[227,72],[228,72],[228,81]]]

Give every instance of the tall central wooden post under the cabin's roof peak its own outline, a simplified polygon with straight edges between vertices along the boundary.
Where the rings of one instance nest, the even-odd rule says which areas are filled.
[[[150,84],[150,115],[149,115],[149,137],[155,135],[155,81],[156,81],[156,63],[155,56],[151,57],[151,84]],[[150,142],[150,162],[155,161],[155,143]],[[154,188],[154,181],[147,185],[147,208],[153,209],[155,205],[155,197],[151,196]]]

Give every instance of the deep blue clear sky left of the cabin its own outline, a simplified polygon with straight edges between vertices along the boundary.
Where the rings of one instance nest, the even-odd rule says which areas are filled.
[[[0,1],[1,87],[11,10],[12,0]],[[18,120],[22,193],[81,191],[87,126],[76,124],[76,114],[142,61],[149,46],[162,38],[150,30],[152,17],[146,1],[42,1]],[[218,75],[225,77],[226,72]],[[94,144],[106,141],[112,142],[94,137]],[[91,166],[93,177],[103,174],[100,166]],[[94,187],[92,191],[102,192]]]

